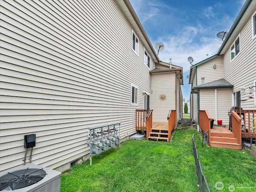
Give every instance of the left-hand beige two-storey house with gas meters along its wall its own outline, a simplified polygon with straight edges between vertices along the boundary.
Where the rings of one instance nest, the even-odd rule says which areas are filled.
[[[27,134],[32,162],[63,171],[88,158],[90,127],[121,122],[124,141],[138,109],[182,115],[182,68],[160,62],[128,0],[1,0],[0,12],[0,173],[23,164]]]

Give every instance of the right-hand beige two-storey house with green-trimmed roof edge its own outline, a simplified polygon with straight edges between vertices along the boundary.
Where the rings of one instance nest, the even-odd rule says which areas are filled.
[[[190,118],[197,123],[199,110],[226,125],[231,106],[256,110],[256,0],[245,2],[218,53],[190,67],[189,83]]]

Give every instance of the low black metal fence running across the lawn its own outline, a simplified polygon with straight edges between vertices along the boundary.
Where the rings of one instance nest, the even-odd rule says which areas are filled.
[[[202,133],[203,132],[196,133],[196,134],[202,134]],[[196,173],[197,173],[197,177],[198,177],[199,189],[200,189],[200,192],[210,192],[208,183],[203,174],[202,167],[201,167],[200,161],[198,159],[198,153],[197,153],[196,142],[195,142],[196,134],[194,134],[192,137],[192,143],[193,143],[193,154],[194,154],[194,158],[195,158],[195,162],[196,162]]]

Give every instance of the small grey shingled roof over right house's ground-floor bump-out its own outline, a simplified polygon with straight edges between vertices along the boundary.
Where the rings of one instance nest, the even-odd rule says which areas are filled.
[[[198,89],[215,89],[215,88],[232,88],[232,87],[234,87],[234,85],[232,85],[230,82],[222,78],[216,81],[195,86],[192,89],[198,90]]]

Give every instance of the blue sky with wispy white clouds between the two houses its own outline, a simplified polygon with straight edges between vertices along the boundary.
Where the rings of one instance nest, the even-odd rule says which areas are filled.
[[[190,99],[188,84],[191,56],[196,64],[217,54],[222,39],[216,34],[229,31],[245,0],[130,0],[153,47],[164,44],[161,61],[183,67],[182,95]],[[156,50],[157,52],[157,50]],[[208,54],[208,57],[206,56]]]

